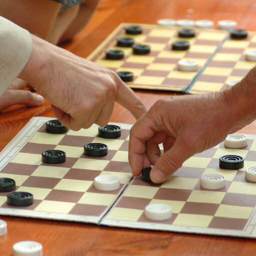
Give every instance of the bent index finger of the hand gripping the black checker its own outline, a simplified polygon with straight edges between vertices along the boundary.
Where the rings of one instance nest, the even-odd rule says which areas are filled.
[[[131,128],[129,137],[128,159],[134,175],[139,175],[144,167],[146,141],[155,133],[152,120],[146,115],[142,116]]]

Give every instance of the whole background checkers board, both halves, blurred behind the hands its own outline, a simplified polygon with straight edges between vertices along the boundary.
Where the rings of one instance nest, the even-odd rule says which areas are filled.
[[[142,27],[142,34],[125,34],[127,25],[130,24],[119,24],[87,58],[114,71],[133,72],[133,80],[127,82],[131,88],[191,94],[219,91],[226,87],[226,81],[241,79],[256,64],[244,59],[245,50],[255,48],[255,32],[248,32],[245,39],[229,39],[229,32],[225,30],[194,27],[195,37],[181,38],[177,36],[180,26],[135,24]],[[116,46],[117,37],[122,36],[149,45],[150,53],[134,55],[131,47]],[[189,41],[189,49],[171,50],[175,40]],[[123,50],[124,58],[106,59],[107,49]],[[196,60],[198,69],[178,70],[180,59]]]

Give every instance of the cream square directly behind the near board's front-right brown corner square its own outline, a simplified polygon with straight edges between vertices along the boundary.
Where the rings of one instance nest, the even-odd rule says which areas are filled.
[[[252,210],[253,207],[220,204],[214,216],[247,219],[250,216]]]

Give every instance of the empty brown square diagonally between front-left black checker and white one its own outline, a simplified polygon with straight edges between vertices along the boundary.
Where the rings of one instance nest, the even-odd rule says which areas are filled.
[[[84,192],[52,189],[48,193],[48,195],[44,198],[44,200],[61,201],[61,202],[77,202],[82,197],[83,194]]]

